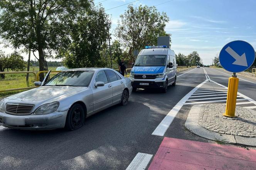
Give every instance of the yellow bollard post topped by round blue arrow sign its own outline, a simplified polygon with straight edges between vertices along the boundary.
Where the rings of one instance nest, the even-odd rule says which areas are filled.
[[[248,69],[253,64],[254,59],[254,48],[246,41],[231,41],[222,48],[219,62],[224,69],[233,72],[232,77],[229,78],[226,112],[223,113],[223,116],[236,117],[236,97],[239,83],[236,73]]]

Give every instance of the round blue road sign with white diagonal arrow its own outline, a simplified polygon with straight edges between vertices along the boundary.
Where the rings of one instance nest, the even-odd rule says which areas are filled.
[[[248,69],[254,62],[253,46],[246,41],[231,41],[219,53],[219,62],[227,71],[237,73]]]

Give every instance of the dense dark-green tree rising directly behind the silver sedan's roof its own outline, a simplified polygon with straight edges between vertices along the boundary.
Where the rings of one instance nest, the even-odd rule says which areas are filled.
[[[58,57],[64,57],[63,63],[68,68],[104,67],[106,59],[101,57],[101,50],[106,48],[110,25],[103,7],[92,8],[72,23],[72,43]]]

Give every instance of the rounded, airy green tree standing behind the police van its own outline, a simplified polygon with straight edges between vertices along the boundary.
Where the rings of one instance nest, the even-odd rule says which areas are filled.
[[[141,50],[147,45],[157,45],[158,36],[167,36],[164,31],[169,21],[166,13],[160,13],[156,7],[132,5],[120,15],[116,36],[123,41],[129,51]],[[134,60],[134,59],[133,59]]]

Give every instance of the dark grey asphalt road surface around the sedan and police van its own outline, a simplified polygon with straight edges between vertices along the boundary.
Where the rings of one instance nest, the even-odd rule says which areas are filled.
[[[205,68],[209,77],[227,86],[228,75]],[[181,75],[188,71],[178,73]],[[239,92],[256,100],[256,81],[241,77]],[[163,137],[201,142],[203,139],[185,129],[192,105],[184,105],[165,135],[152,132],[168,112],[198,84],[205,81],[203,68],[189,70],[177,78],[166,94],[138,90],[126,106],[113,106],[86,120],[75,131],[0,130],[0,169],[126,169],[138,152],[155,155]]]

